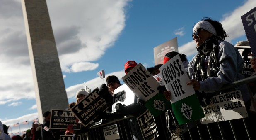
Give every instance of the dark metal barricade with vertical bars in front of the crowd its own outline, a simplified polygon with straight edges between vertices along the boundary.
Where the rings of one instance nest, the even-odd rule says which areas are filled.
[[[256,82],[256,75],[252,75],[251,77],[235,81],[233,83],[227,84],[223,86],[221,90],[230,89],[235,86],[239,86],[242,84],[248,84],[249,82]],[[255,87],[256,88],[256,87]],[[249,89],[249,88],[248,88]],[[256,109],[256,102],[253,98],[253,93],[249,90],[250,98],[252,100],[254,109]],[[249,111],[249,110],[248,110]],[[250,115],[250,114],[249,114]],[[89,132],[85,133],[83,136],[84,140],[104,140],[104,131],[102,128],[108,125],[117,124],[118,132],[120,135],[121,140],[136,140],[133,136],[132,130],[134,129],[133,126],[130,125],[130,119],[132,116],[124,117],[122,119],[116,119],[113,121],[108,121],[102,123],[100,125],[94,126],[89,129]],[[246,131],[247,135],[243,135],[243,140],[252,140],[251,133],[249,132],[248,124],[246,124],[246,118],[242,119],[235,119],[229,121],[220,121],[210,124],[201,124],[199,121],[195,121],[192,123],[187,123],[181,127],[186,127],[186,132],[182,138],[184,140],[240,140],[237,138],[237,135],[241,135],[237,132]],[[256,118],[255,118],[256,119]],[[162,121],[165,123],[165,121]],[[243,126],[238,125],[243,124]],[[163,124],[164,126],[164,124]],[[193,127],[193,129],[191,129]],[[221,137],[215,137],[213,132],[219,131]],[[227,135],[227,131],[229,131]],[[207,133],[207,134],[206,134]],[[164,133],[165,138],[168,138],[167,133]],[[197,135],[197,137],[193,137],[193,135]],[[203,135],[208,135],[208,137],[203,137]],[[256,134],[253,134],[256,135]],[[157,140],[157,139],[156,139]]]

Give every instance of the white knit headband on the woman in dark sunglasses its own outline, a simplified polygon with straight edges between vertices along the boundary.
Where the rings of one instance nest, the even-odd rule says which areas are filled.
[[[194,26],[193,32],[195,33],[197,29],[205,29],[217,37],[217,32],[215,28],[208,21],[199,21],[198,23],[196,23],[196,25]]]

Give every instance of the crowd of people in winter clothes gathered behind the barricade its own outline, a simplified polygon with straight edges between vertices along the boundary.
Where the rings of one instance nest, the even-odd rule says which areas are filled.
[[[204,18],[203,20],[196,23],[196,25],[194,26],[192,37],[193,40],[195,40],[196,50],[198,51],[198,53],[192,58],[190,62],[188,62],[185,54],[179,54],[178,52],[169,52],[165,55],[163,63],[166,63],[176,55],[180,56],[185,70],[188,73],[188,76],[191,78],[191,81],[186,84],[193,86],[193,89],[196,91],[196,95],[198,96],[198,100],[200,101],[200,105],[202,107],[207,107],[208,105],[212,104],[212,96],[240,89],[242,91],[242,98],[246,105],[246,109],[248,109],[251,105],[251,100],[246,85],[241,85],[224,91],[220,91],[220,89],[225,86],[225,84],[244,79],[244,75],[242,75],[244,60],[239,54],[239,51],[234,47],[234,45],[225,41],[227,33],[222,28],[221,23],[218,21],[214,21],[210,18]],[[248,55],[253,56],[253,54]],[[256,58],[252,58],[250,62],[252,68],[256,72]],[[136,65],[137,63],[135,61],[128,61],[127,63],[125,63],[125,73],[127,74]],[[154,67],[147,68],[147,70],[152,74],[152,76],[159,75],[161,74],[159,68],[162,65],[163,64],[158,64]],[[136,119],[147,110],[143,100],[140,100],[137,96],[134,95],[134,102],[132,104],[124,105],[122,103],[117,103],[115,105],[116,112],[111,113],[114,91],[121,85],[121,82],[115,75],[110,75],[106,77],[106,84],[102,84],[100,86],[99,95],[104,98],[104,100],[106,100],[106,103],[109,105],[109,109],[101,112],[101,115],[95,118],[94,121],[113,120],[131,115],[133,117],[129,119],[129,122],[130,126],[133,127],[133,138],[143,140],[140,126]],[[167,100],[171,100],[171,91],[166,90],[165,86],[159,86],[158,89],[159,93],[162,93]],[[70,103],[69,108],[72,108],[74,105],[79,103],[80,100],[85,98],[88,94],[89,93],[85,91],[85,89],[80,89],[79,91],[77,91],[77,101],[76,103]],[[205,99],[206,102],[202,102],[201,100],[203,99]],[[249,114],[249,119],[246,120],[248,121],[247,124],[250,124],[252,122],[253,119],[251,119],[251,116],[254,117],[253,114]],[[80,130],[74,130],[73,125],[70,124],[67,126],[67,129],[65,131],[56,129],[50,129],[49,131],[46,131],[43,128],[45,126],[49,127],[51,112],[45,112],[43,114],[43,117],[45,120],[43,124],[39,125],[33,123],[32,128],[27,130],[25,135],[20,138],[19,136],[13,136],[12,140],[53,140],[58,139],[59,135],[82,135],[89,130],[88,126],[82,126]],[[159,119],[155,119],[156,125],[165,127],[164,130],[159,131],[159,140],[186,140],[190,139],[191,134],[193,139],[197,140],[201,137],[199,137],[198,133],[196,133],[198,129],[202,131],[203,139],[210,139],[210,137],[206,135],[207,126],[205,125],[201,125],[199,126],[199,128],[196,128],[196,124],[189,123],[192,133],[188,134],[188,131],[186,130],[186,127],[184,125],[178,125],[176,117],[172,110],[168,110],[167,112],[165,112],[165,114],[161,114],[158,118]],[[161,123],[157,120],[165,120],[165,123]],[[78,119],[76,120],[76,122],[78,123]],[[208,124],[208,127],[213,128],[213,131],[211,133],[215,140],[222,139],[222,137],[224,137],[225,139],[232,138],[229,135],[232,132],[228,129],[225,129],[227,128],[227,123],[227,121],[221,121],[218,125],[215,123]],[[219,125],[225,129],[223,130],[223,134],[219,132]],[[251,126],[253,125],[249,125],[249,132],[253,134],[254,129]],[[11,140],[10,136],[8,136],[6,128],[6,125],[2,125],[0,123],[0,140]],[[4,132],[4,135],[2,135],[3,133],[1,132]],[[168,135],[168,138],[165,137],[166,134]],[[252,135],[252,137],[254,138],[254,135]]]

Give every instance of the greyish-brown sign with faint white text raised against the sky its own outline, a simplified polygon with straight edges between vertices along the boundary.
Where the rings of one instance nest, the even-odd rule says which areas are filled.
[[[164,63],[164,56],[168,52],[176,51],[178,52],[178,41],[177,37],[171,39],[163,44],[154,48],[154,60],[155,65]]]

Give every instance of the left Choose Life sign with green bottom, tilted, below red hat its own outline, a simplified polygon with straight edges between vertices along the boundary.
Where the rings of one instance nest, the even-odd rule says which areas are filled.
[[[154,117],[171,109],[171,104],[164,98],[164,93],[157,90],[160,84],[141,63],[122,79],[133,93],[145,102],[145,107]]]

